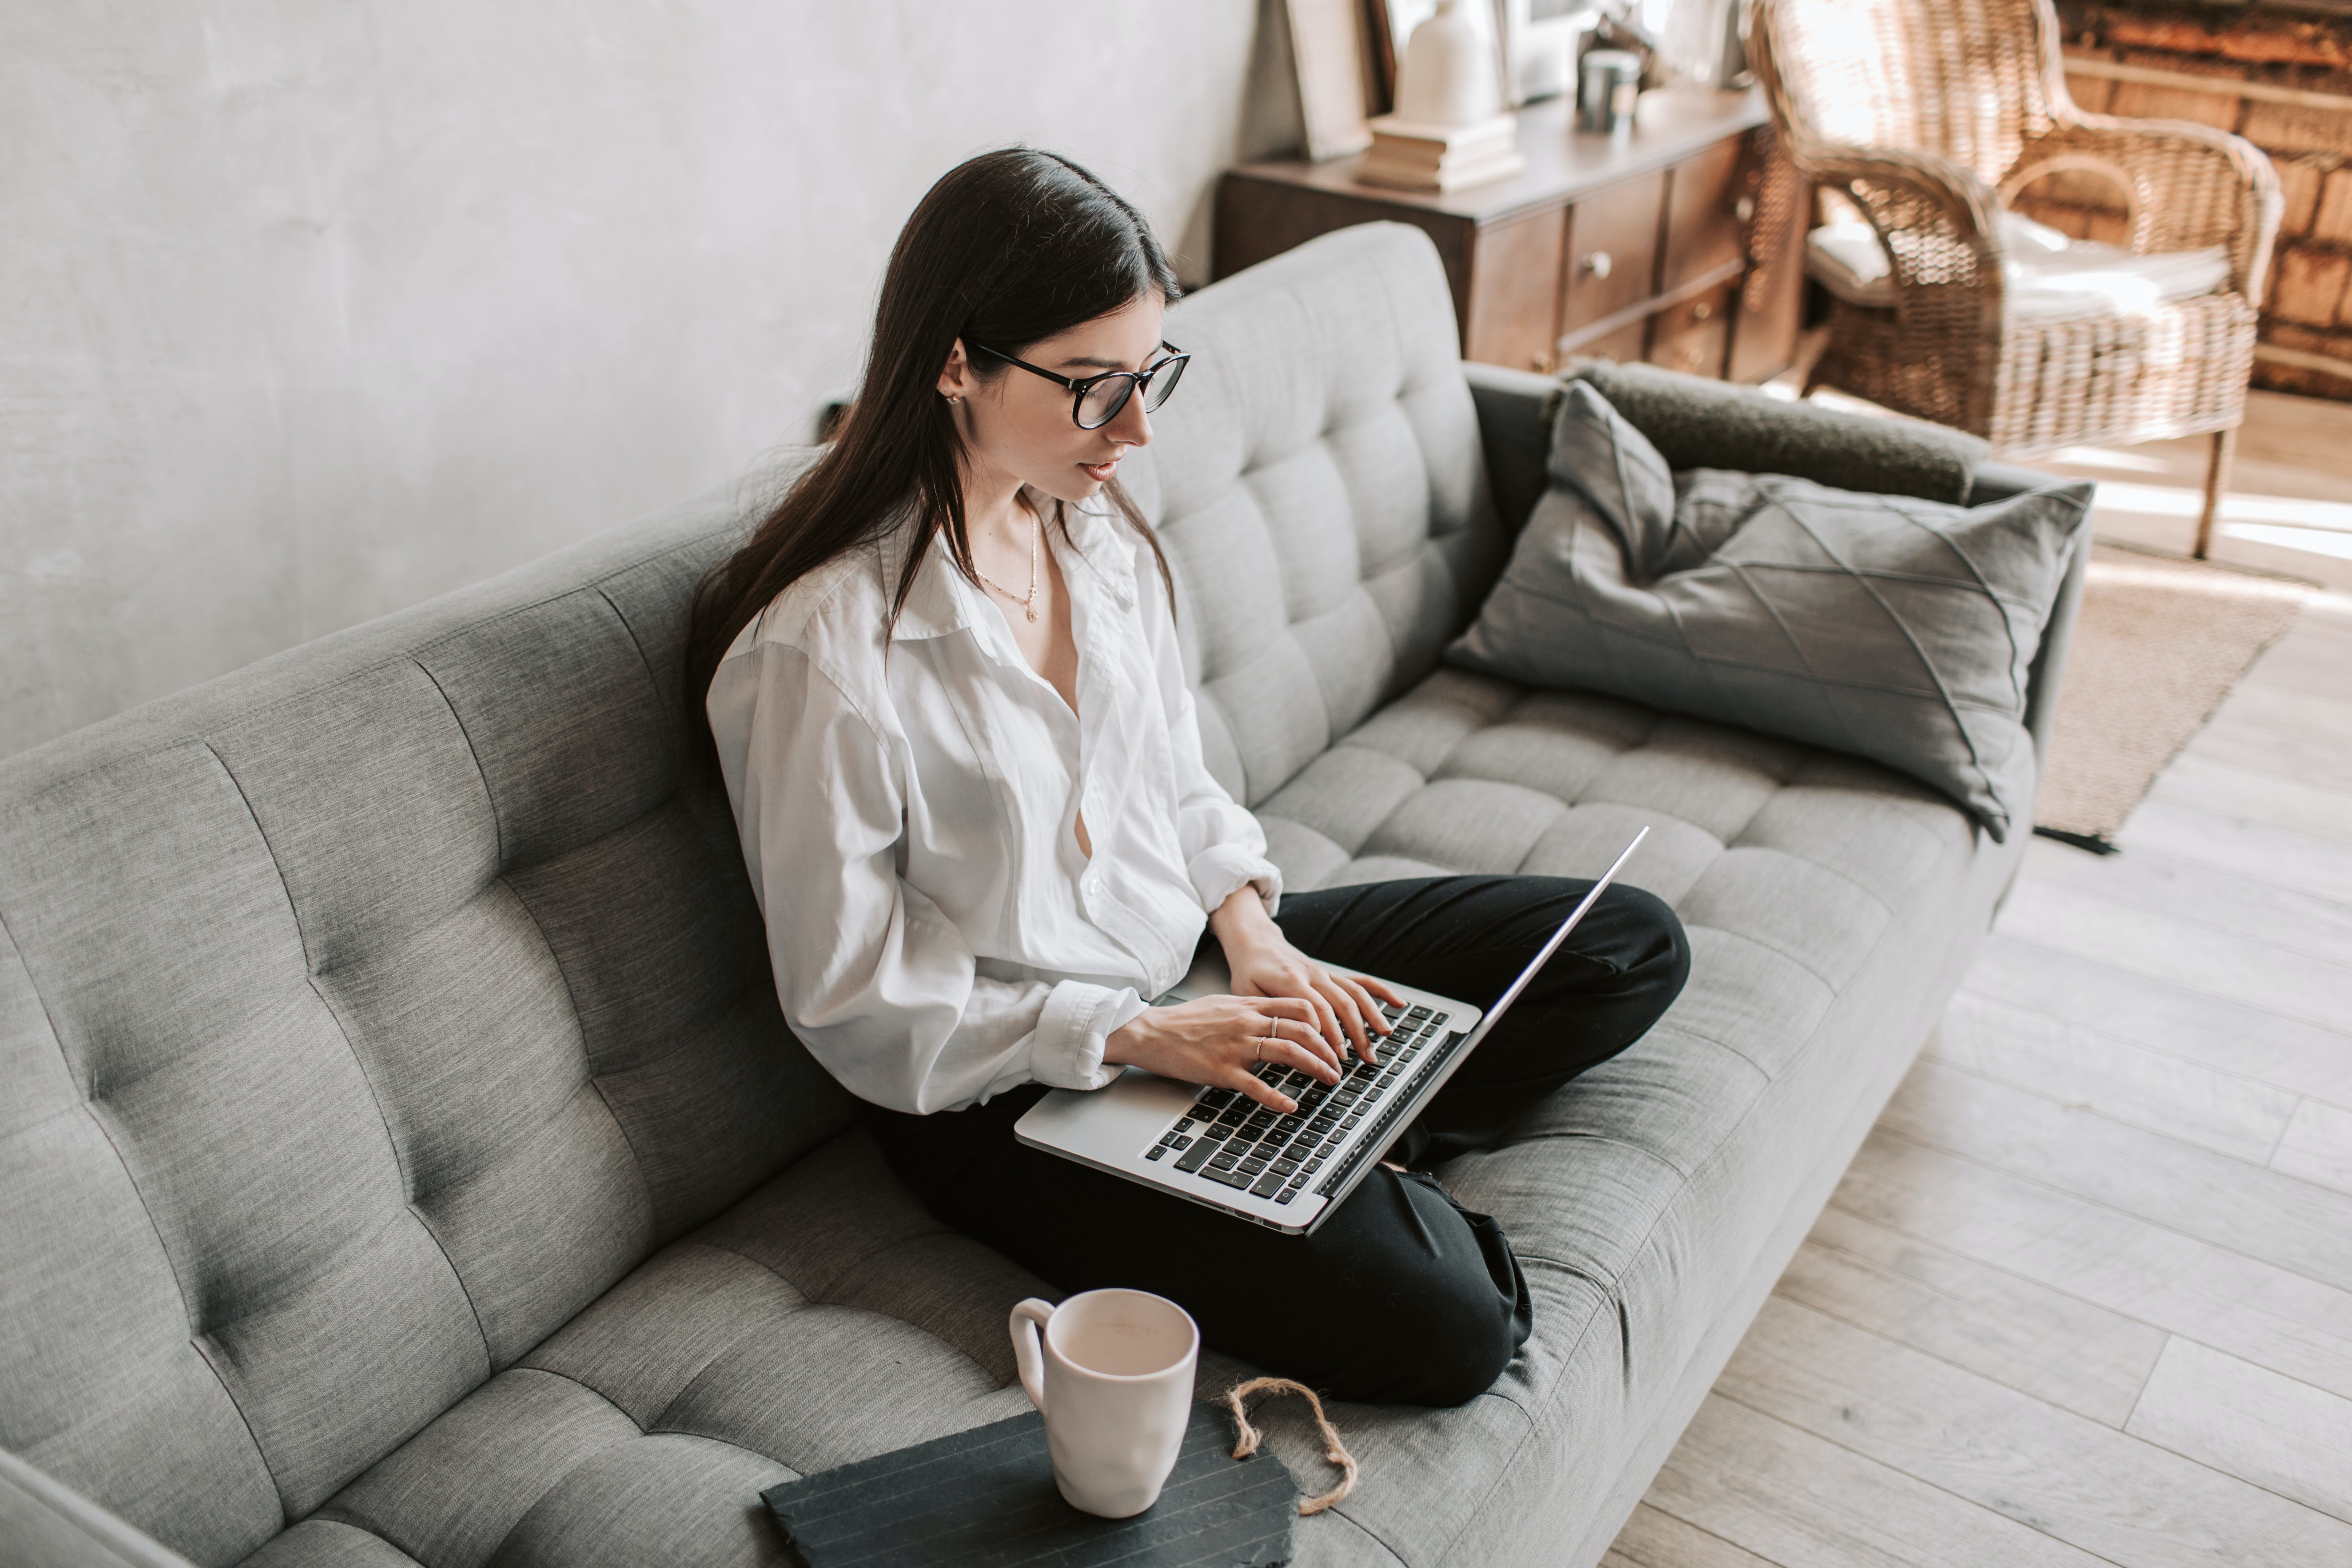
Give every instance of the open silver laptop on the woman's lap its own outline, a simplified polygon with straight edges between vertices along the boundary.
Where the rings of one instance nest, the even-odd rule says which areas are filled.
[[[1543,950],[1484,1013],[1468,1001],[1390,985],[1404,1006],[1383,1004],[1392,1034],[1374,1034],[1376,1065],[1348,1058],[1336,1086],[1268,1063],[1258,1079],[1298,1103],[1275,1114],[1232,1088],[1200,1088],[1129,1067],[1096,1091],[1056,1088],[1014,1126],[1035,1150],[1174,1192],[1181,1199],[1303,1234],[1322,1225],[1371,1175],[1397,1133],[1411,1126],[1454,1070],[1486,1039],[1545,959],[1602,896],[1649,827],[1602,872]],[[1230,990],[1223,957],[1204,957],[1155,1006]]]

